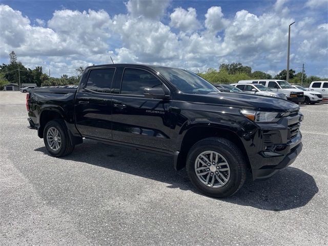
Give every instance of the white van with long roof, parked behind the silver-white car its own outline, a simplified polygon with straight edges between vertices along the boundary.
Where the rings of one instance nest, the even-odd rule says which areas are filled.
[[[250,79],[250,80],[239,80],[238,84],[251,83],[251,84],[261,84],[270,88],[273,91],[284,93],[287,99],[293,101],[294,103],[303,103],[304,92],[299,89],[295,89],[286,80],[280,79]]]

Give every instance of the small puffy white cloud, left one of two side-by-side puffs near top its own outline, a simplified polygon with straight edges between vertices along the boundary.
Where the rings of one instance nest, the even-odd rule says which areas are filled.
[[[183,32],[192,32],[201,27],[196,14],[196,9],[188,8],[188,10],[182,8],[174,9],[170,15],[170,26],[178,28]]]

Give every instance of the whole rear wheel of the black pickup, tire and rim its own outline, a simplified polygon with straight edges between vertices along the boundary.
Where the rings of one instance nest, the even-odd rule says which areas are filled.
[[[55,157],[72,153],[72,144],[65,123],[61,119],[49,121],[44,129],[44,142],[48,152]]]

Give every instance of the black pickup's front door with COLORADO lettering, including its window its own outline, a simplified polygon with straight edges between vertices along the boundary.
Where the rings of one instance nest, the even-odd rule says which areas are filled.
[[[166,87],[162,81],[151,70],[132,67],[124,69],[117,85],[118,94],[112,98],[113,140],[170,150],[171,101],[144,96],[146,87]]]

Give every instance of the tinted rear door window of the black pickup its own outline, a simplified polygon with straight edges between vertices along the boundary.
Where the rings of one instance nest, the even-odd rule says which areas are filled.
[[[92,69],[89,73],[86,88],[96,92],[111,92],[115,68]]]

